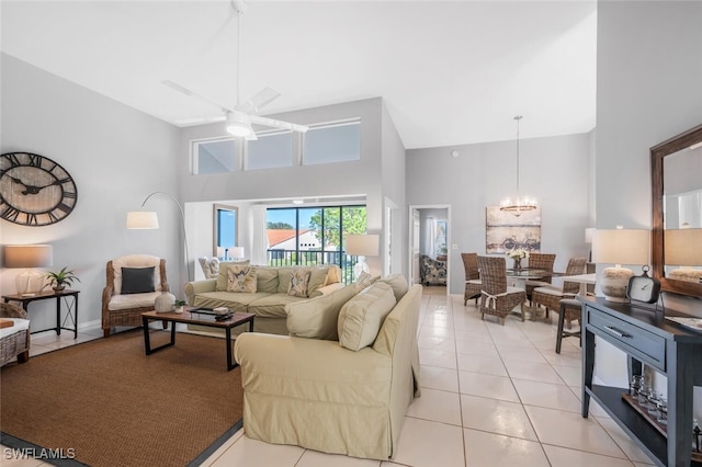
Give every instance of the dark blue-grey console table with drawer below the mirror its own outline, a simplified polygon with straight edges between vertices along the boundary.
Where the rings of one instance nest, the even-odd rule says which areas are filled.
[[[582,417],[590,398],[659,466],[702,466],[691,460],[692,391],[702,386],[702,333],[665,319],[664,312],[630,304],[580,297],[582,301]],[[666,310],[668,316],[684,316]],[[668,436],[638,414],[622,394],[629,388],[592,384],[595,337],[627,355],[629,380],[646,364],[668,378]]]

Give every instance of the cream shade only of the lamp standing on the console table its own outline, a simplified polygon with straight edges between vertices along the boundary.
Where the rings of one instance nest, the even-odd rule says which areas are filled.
[[[605,264],[648,264],[650,232],[644,229],[596,229],[592,261]]]

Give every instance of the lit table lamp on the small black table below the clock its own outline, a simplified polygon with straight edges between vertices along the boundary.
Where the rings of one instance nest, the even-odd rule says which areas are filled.
[[[5,267],[25,267],[14,280],[18,294],[33,297],[44,285],[44,275],[34,267],[52,266],[54,249],[50,244],[7,244],[3,258]]]

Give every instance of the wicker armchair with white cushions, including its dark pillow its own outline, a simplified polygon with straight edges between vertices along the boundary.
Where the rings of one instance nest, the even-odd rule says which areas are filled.
[[[115,326],[141,326],[141,314],[152,311],[156,297],[168,291],[163,259],[129,254],[107,261],[106,285],[102,291],[104,337]]]

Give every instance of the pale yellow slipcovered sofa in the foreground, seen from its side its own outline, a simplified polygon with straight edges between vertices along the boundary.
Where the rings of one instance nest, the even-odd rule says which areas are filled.
[[[374,284],[369,287],[372,291],[341,307],[336,321],[340,341],[260,333],[238,337],[235,358],[241,365],[247,436],[354,457],[393,457],[407,408],[419,397],[417,326],[422,287],[407,291],[405,282],[404,295],[393,287],[399,300],[395,304],[393,298],[389,314],[383,316],[367,307],[387,299],[387,285],[382,286]],[[291,328],[301,328],[299,322],[291,322],[293,311],[305,311],[302,320],[328,326],[337,310],[330,319],[320,318],[328,310],[319,304],[333,301],[333,296],[350,287],[288,307]],[[381,295],[384,298],[377,298]],[[346,312],[353,301],[361,301],[355,316]],[[370,328],[376,326],[374,333],[367,332],[369,322]],[[296,333],[304,334],[299,329]]]

